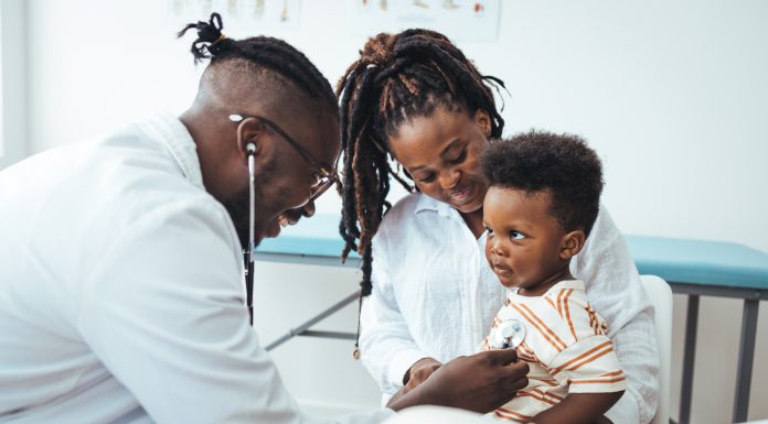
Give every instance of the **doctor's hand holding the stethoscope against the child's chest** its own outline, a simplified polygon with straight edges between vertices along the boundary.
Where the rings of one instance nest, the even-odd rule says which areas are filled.
[[[509,402],[527,385],[529,366],[514,349],[459,357],[438,368],[420,385],[390,402],[395,411],[440,405],[487,413]]]

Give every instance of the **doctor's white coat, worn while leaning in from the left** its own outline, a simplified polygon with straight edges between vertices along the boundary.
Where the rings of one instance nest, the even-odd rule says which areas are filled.
[[[1,172],[0,235],[0,422],[393,414],[299,413],[248,325],[234,226],[171,115]]]

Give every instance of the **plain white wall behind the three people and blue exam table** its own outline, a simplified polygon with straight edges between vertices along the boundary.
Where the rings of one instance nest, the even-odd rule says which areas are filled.
[[[171,2],[28,1],[30,152],[190,104],[200,69],[188,53],[191,37],[174,40],[184,22],[170,12]],[[270,33],[303,51],[332,83],[364,42],[344,31],[343,4],[303,1],[300,31]],[[498,42],[459,44],[481,72],[508,83],[508,133],[536,127],[590,141],[605,162],[605,203],[626,232],[768,251],[766,19],[768,2],[760,0],[509,1]],[[236,26],[230,36],[260,32]],[[323,202],[321,211],[339,207],[332,195]],[[346,295],[358,279],[350,270],[265,263],[258,272],[265,341]],[[676,335],[682,301],[675,300]],[[757,358],[768,354],[762,306]],[[706,300],[702,315],[693,422],[724,423],[740,308]],[[352,330],[354,322],[349,308],[323,328]],[[680,358],[679,343],[674,349]],[[349,343],[295,340],[275,357],[305,403],[376,403]],[[751,417],[768,417],[768,404],[759,402],[768,395],[768,379],[758,378],[765,376],[768,365],[758,361]],[[675,395],[674,414],[676,402]]]

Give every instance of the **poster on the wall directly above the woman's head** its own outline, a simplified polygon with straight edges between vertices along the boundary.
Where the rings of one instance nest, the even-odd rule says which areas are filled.
[[[501,0],[348,0],[351,34],[427,28],[454,41],[489,42],[499,34]]]

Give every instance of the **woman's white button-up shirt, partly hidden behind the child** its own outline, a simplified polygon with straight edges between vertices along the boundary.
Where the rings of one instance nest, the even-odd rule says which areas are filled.
[[[362,360],[385,402],[422,358],[476,352],[506,295],[459,213],[424,194],[397,203],[373,239],[373,293],[363,302]],[[608,322],[628,389],[607,413],[648,423],[658,402],[659,356],[651,306],[626,241],[605,209],[570,271]]]

